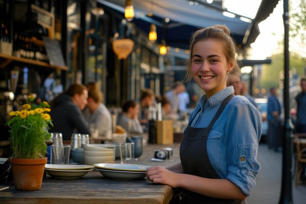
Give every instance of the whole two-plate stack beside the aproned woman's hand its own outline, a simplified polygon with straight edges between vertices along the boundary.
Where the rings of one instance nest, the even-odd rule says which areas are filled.
[[[137,180],[146,177],[150,166],[120,163],[96,163],[94,167],[105,177],[116,180]]]

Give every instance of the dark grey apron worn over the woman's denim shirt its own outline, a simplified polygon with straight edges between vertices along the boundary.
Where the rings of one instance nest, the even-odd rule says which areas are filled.
[[[222,113],[226,104],[234,97],[227,96],[221,103],[216,115],[207,128],[194,128],[187,126],[183,140],[180,145],[180,159],[185,174],[191,174],[209,179],[220,179],[213,168],[207,154],[207,138],[209,133]],[[191,123],[190,123],[191,124]],[[191,159],[192,158],[192,159]],[[224,158],[225,159],[225,158]],[[246,201],[217,199],[204,196],[183,189],[182,204],[247,204]]]

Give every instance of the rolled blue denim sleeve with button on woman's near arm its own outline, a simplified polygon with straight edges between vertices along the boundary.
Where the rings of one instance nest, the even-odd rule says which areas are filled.
[[[259,111],[241,98],[231,107],[225,126],[228,135],[227,177],[249,196],[255,187],[255,177],[260,170],[257,161],[258,143],[262,134],[262,119]]]

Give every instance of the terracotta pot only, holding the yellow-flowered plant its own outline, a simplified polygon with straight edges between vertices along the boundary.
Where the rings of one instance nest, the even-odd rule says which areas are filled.
[[[44,176],[43,159],[16,159],[11,158],[15,188],[22,191],[39,190]]]

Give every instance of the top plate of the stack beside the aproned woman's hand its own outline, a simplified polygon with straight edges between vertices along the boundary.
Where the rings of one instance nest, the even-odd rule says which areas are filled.
[[[95,163],[97,169],[107,169],[110,171],[130,171],[130,172],[146,172],[150,166],[126,164],[126,163]]]

